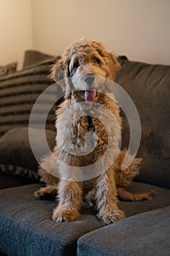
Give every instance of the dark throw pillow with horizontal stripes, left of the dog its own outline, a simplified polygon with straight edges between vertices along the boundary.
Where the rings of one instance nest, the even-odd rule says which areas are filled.
[[[13,127],[28,126],[34,102],[42,91],[53,83],[47,75],[50,65],[58,58],[51,58],[20,72],[0,77],[0,137]],[[39,106],[35,124],[38,124],[42,118],[44,103]],[[54,111],[53,106],[47,116],[47,129],[54,129]]]

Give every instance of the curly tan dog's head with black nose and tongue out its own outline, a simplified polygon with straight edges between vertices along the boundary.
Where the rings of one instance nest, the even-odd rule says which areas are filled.
[[[90,102],[98,92],[112,92],[112,81],[120,64],[101,42],[80,39],[67,48],[51,69],[50,78],[63,80],[66,95]],[[72,93],[71,93],[72,92]]]

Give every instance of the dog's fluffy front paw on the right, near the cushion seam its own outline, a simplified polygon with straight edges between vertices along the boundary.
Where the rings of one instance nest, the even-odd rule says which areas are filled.
[[[99,212],[98,219],[106,225],[117,222],[117,220],[124,219],[125,214],[119,209]]]

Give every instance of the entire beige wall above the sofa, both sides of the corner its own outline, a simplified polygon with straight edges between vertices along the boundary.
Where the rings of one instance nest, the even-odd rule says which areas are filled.
[[[34,48],[61,54],[74,39],[101,40],[129,59],[170,64],[169,0],[0,0],[0,65]]]

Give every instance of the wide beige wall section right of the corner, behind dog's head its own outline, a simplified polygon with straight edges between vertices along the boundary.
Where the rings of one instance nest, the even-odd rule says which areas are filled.
[[[60,54],[90,37],[129,59],[170,64],[169,0],[33,0],[33,7],[36,49]]]

